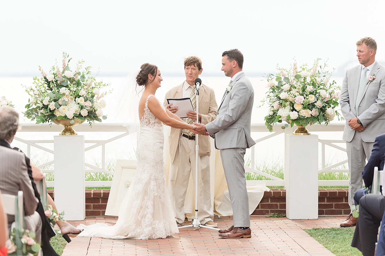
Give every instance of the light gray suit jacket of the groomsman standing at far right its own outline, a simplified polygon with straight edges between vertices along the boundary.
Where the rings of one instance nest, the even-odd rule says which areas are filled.
[[[346,70],[342,81],[340,104],[342,115],[346,120],[342,139],[347,142],[352,141],[356,132],[350,128],[348,120],[357,117],[356,99],[361,69],[362,65],[358,65]],[[367,79],[358,105],[358,119],[364,127],[366,126],[361,132],[364,142],[374,142],[378,135],[385,133],[385,67],[376,61],[369,75],[373,74],[376,78],[372,82]]]

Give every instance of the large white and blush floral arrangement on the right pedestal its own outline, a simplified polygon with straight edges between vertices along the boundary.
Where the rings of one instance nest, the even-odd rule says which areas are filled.
[[[326,71],[326,62],[319,65],[320,59],[314,61],[313,67],[303,64],[297,68],[297,63],[290,69],[278,67],[276,75],[268,74],[266,98],[262,102],[269,105],[268,115],[264,118],[270,132],[273,124],[286,121],[291,127],[309,124],[329,124],[335,116],[340,120],[340,114],[335,110],[340,97],[340,86],[335,81],[329,83],[331,72]],[[319,68],[319,69],[318,69]],[[277,83],[276,83],[277,82]],[[344,120],[341,117],[341,120]],[[288,124],[282,126],[282,129]]]

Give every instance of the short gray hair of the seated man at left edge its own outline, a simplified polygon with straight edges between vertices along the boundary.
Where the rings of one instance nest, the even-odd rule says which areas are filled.
[[[0,139],[10,140],[19,126],[19,114],[10,106],[0,107]]]

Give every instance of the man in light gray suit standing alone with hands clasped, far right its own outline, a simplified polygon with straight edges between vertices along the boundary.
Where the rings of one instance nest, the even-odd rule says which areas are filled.
[[[365,159],[369,159],[375,138],[385,133],[385,67],[375,61],[377,43],[371,37],[357,41],[360,65],[346,71],[340,104],[346,119],[342,139],[346,141],[349,163],[349,205],[362,188]],[[354,226],[357,218],[348,216],[341,226]]]

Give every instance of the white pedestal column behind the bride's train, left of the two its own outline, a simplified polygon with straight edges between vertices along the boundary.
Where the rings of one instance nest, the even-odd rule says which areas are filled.
[[[84,135],[54,136],[54,170],[57,209],[65,220],[84,220]]]

